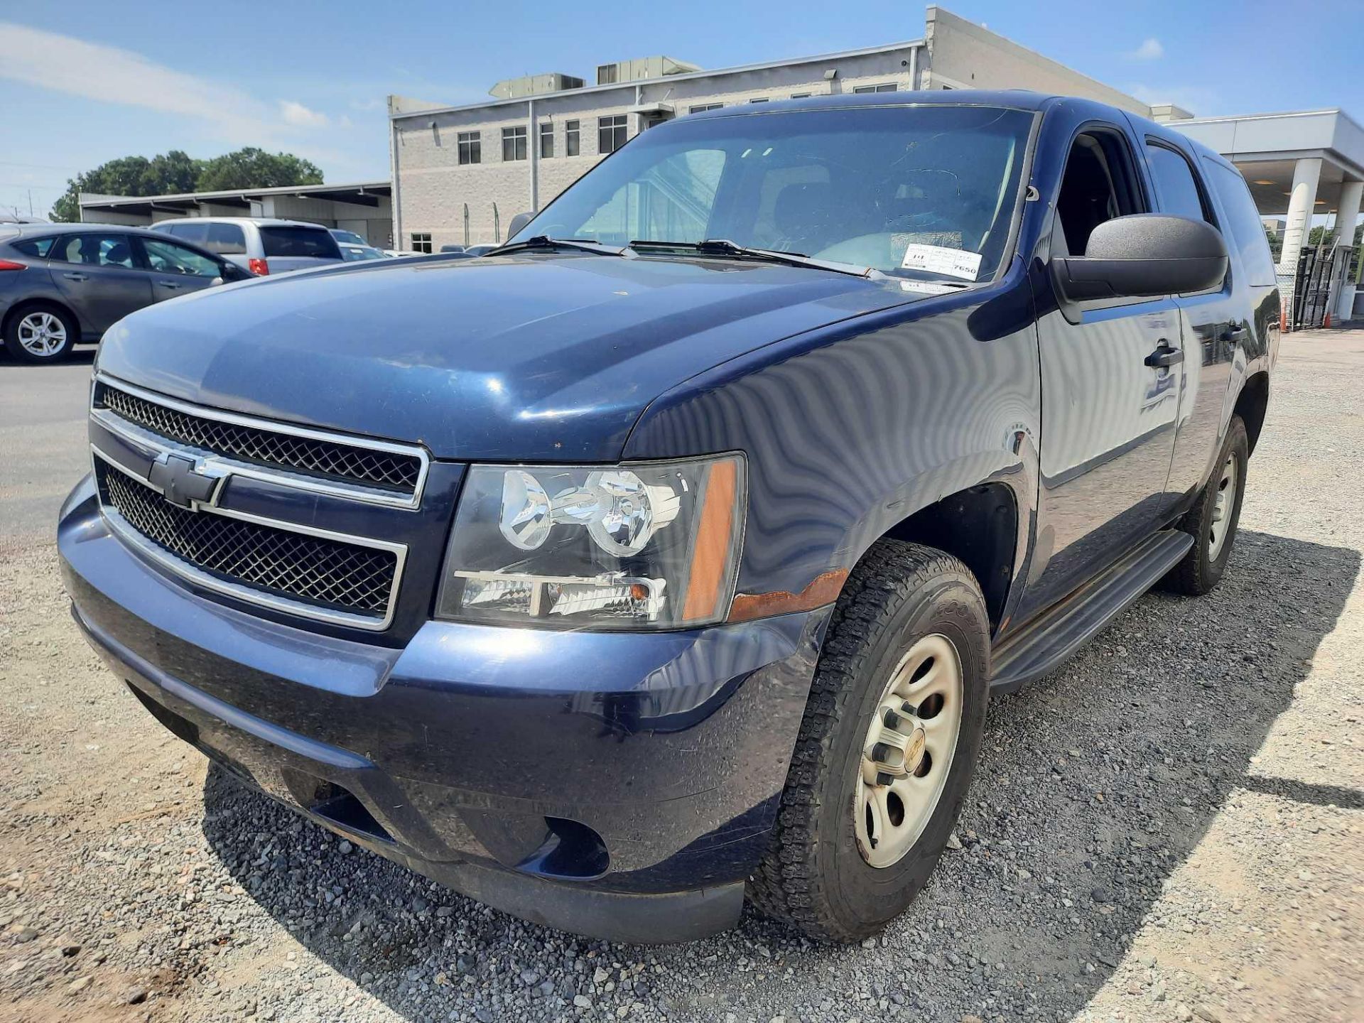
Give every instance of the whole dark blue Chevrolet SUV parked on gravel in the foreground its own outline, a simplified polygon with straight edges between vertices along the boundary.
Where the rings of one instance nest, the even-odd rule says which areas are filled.
[[[75,618],[168,728],[521,917],[855,940],[992,692],[1236,536],[1279,329],[1240,175],[1027,93],[652,128],[481,259],[105,337]]]

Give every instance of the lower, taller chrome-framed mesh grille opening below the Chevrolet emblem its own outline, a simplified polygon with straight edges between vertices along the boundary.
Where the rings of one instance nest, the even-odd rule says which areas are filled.
[[[221,509],[190,510],[102,457],[94,471],[105,514],[168,558],[169,567],[210,589],[341,625],[382,629],[393,618],[400,546]]]

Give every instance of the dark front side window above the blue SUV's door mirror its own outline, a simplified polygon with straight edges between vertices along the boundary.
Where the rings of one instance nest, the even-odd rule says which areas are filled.
[[[1084,255],[1099,224],[1146,213],[1136,180],[1132,157],[1118,135],[1087,131],[1076,136],[1056,201],[1054,252]]]

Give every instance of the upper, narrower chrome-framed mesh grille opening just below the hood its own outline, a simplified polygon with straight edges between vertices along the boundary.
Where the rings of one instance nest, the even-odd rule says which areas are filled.
[[[95,382],[93,405],[115,421],[263,472],[330,480],[413,506],[420,499],[427,462],[416,447],[203,409],[108,379]]]

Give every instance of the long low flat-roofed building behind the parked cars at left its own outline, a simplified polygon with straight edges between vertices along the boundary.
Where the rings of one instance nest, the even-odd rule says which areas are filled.
[[[170,217],[281,217],[353,231],[371,246],[387,248],[393,235],[391,195],[389,181],[361,181],[180,195],[82,192],[79,203],[86,222],[146,226]]]

